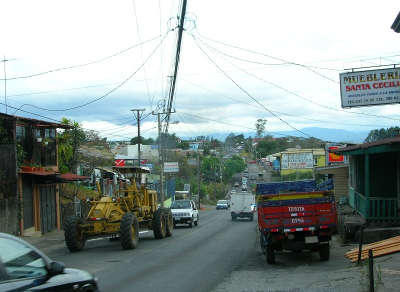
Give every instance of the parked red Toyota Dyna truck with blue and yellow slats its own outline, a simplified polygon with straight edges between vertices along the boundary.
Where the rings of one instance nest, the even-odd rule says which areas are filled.
[[[336,229],[336,206],[330,190],[315,180],[263,182],[256,185],[258,229],[267,263],[275,251],[319,251],[329,259],[329,240]]]

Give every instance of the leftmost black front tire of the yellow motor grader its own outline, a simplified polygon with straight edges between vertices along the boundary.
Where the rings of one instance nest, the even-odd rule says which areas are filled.
[[[83,223],[83,219],[79,216],[70,216],[66,220],[64,238],[69,251],[80,251],[83,249],[86,235],[83,229],[79,227]]]

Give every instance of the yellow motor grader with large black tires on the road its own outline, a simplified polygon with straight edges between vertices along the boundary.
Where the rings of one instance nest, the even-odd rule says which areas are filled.
[[[69,251],[82,250],[86,238],[109,236],[118,238],[122,248],[137,246],[139,229],[153,230],[155,239],[171,236],[173,218],[169,208],[158,206],[157,193],[147,189],[143,174],[149,173],[148,167],[119,166],[115,171],[129,175],[130,183],[124,183],[112,196],[104,195],[97,182],[98,199],[87,197],[85,201],[92,205],[85,220],[79,216],[68,217],[65,223],[64,237]]]

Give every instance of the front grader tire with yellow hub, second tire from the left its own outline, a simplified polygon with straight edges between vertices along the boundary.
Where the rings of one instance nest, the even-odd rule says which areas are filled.
[[[123,249],[136,248],[139,241],[139,222],[133,213],[124,213],[119,224],[119,241]]]

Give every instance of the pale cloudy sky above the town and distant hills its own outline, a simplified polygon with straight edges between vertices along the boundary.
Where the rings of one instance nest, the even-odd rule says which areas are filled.
[[[4,0],[0,111],[108,140],[162,131],[194,139],[307,127],[400,125],[400,105],[342,108],[339,74],[400,62],[395,0],[187,0],[175,90],[172,0]],[[179,121],[179,123],[172,123]],[[362,141],[360,141],[362,142]]]

